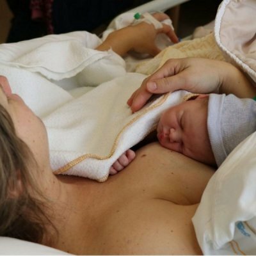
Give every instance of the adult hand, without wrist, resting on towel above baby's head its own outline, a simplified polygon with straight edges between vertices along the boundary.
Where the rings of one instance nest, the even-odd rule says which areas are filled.
[[[188,90],[193,93],[220,92],[223,71],[230,64],[204,58],[171,59],[147,77],[127,101],[132,112],[140,110],[153,93]],[[229,68],[230,69],[230,68]]]

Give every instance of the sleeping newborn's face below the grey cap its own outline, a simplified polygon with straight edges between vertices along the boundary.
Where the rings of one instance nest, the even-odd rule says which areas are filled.
[[[167,109],[157,126],[159,143],[206,164],[215,164],[207,131],[208,98],[196,98]]]

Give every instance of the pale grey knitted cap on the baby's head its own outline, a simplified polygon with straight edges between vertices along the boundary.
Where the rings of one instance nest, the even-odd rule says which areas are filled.
[[[218,166],[234,148],[256,131],[256,101],[236,96],[209,96],[207,127]]]

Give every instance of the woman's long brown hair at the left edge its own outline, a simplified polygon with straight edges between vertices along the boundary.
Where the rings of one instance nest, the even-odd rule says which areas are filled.
[[[40,191],[31,166],[37,168],[33,154],[17,136],[12,118],[0,105],[0,236],[42,243],[51,221],[44,211],[46,201],[36,199]]]

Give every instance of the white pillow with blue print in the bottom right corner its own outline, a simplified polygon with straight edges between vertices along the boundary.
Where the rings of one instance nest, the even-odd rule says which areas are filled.
[[[240,143],[205,188],[193,224],[205,255],[256,255],[256,132]]]

